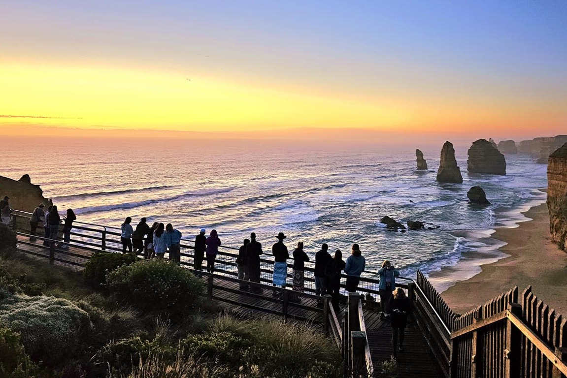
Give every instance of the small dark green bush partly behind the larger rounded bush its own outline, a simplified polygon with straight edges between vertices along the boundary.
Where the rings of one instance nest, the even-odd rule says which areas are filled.
[[[122,265],[130,265],[138,258],[132,253],[95,252],[84,265],[83,278],[88,286],[100,289],[106,283],[106,275]]]

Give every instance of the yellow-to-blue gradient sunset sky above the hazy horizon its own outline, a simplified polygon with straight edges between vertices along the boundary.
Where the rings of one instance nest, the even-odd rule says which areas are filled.
[[[567,2],[498,3],[1,2],[0,128],[566,133]]]

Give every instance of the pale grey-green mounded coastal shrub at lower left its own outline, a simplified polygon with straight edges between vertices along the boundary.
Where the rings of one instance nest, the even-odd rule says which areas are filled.
[[[92,329],[88,314],[71,301],[43,295],[2,299],[0,323],[19,332],[28,355],[48,366],[75,358]]]

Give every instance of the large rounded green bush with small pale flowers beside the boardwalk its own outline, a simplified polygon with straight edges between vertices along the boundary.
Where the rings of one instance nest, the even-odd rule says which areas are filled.
[[[201,302],[203,283],[193,273],[166,260],[138,261],[107,275],[110,292],[141,311],[167,313],[174,319]]]

